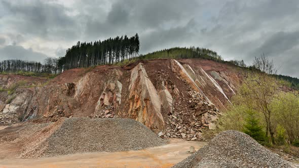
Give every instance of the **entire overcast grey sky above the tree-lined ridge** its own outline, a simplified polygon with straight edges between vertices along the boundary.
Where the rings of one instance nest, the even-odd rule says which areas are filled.
[[[299,1],[0,0],[0,60],[43,61],[80,41],[135,33],[140,54],[204,47],[225,60],[265,53],[299,77]]]

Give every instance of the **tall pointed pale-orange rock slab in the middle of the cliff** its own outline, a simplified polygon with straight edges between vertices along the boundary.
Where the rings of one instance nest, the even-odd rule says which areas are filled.
[[[141,63],[132,69],[129,86],[129,111],[136,120],[152,130],[162,130],[161,101]]]

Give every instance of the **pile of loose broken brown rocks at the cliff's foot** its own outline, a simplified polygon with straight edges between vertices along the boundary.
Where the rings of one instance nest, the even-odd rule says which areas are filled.
[[[186,140],[204,140],[202,130],[214,130],[215,122],[220,115],[215,105],[205,101],[203,95],[196,91],[187,92],[188,99],[179,98],[175,103],[174,113],[168,116],[167,128],[159,133],[163,138],[183,138]],[[189,108],[184,108],[183,101],[188,102]]]

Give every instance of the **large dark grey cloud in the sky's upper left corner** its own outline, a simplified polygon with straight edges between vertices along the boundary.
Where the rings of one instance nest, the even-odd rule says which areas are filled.
[[[52,39],[61,36],[76,37],[78,28],[65,7],[45,1],[2,1],[3,10],[13,17],[11,26],[21,33],[29,33]],[[76,33],[74,33],[76,31]],[[72,32],[71,34],[67,32]],[[66,39],[62,37],[62,39]]]

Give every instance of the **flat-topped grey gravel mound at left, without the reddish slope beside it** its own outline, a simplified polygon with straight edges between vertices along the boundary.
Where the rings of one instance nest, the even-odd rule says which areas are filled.
[[[139,150],[166,144],[142,123],[125,118],[67,118],[45,140],[40,155]],[[30,157],[30,156],[26,156]]]

